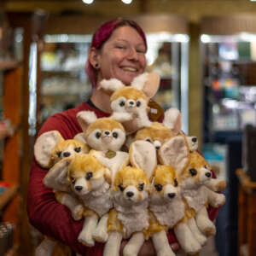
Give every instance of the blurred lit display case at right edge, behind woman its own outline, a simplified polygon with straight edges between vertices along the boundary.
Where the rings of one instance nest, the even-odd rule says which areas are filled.
[[[241,141],[246,125],[256,125],[256,18],[209,16],[201,20],[201,69],[204,92],[204,155],[220,154],[226,178],[226,203],[217,224],[219,256],[238,255],[238,183]],[[216,148],[221,148],[217,150]]]

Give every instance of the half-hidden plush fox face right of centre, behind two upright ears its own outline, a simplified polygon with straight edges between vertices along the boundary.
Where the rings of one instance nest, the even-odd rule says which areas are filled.
[[[160,123],[152,123],[149,127],[145,127],[137,131],[135,140],[144,140],[153,143],[156,149],[166,142],[167,139],[176,135],[171,129]]]

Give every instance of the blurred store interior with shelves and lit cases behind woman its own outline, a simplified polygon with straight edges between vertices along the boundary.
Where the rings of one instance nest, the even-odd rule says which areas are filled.
[[[121,16],[146,33],[147,71],[160,74],[154,101],[180,109],[183,131],[227,183],[217,234],[200,255],[256,255],[256,2],[92,2],[0,3],[0,222],[10,230],[0,255],[32,256],[42,239],[26,214],[33,144],[50,115],[89,99],[92,34]]]

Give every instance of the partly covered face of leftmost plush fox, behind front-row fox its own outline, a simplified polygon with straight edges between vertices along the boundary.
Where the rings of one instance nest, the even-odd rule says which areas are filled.
[[[76,154],[85,154],[89,152],[89,147],[78,140],[66,140],[57,143],[51,152],[51,162],[55,164],[65,157],[73,157]]]

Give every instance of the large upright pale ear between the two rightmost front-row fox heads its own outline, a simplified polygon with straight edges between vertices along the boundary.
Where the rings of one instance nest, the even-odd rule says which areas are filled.
[[[172,166],[177,175],[189,164],[189,146],[183,136],[170,138],[160,147],[158,154],[160,163]]]

